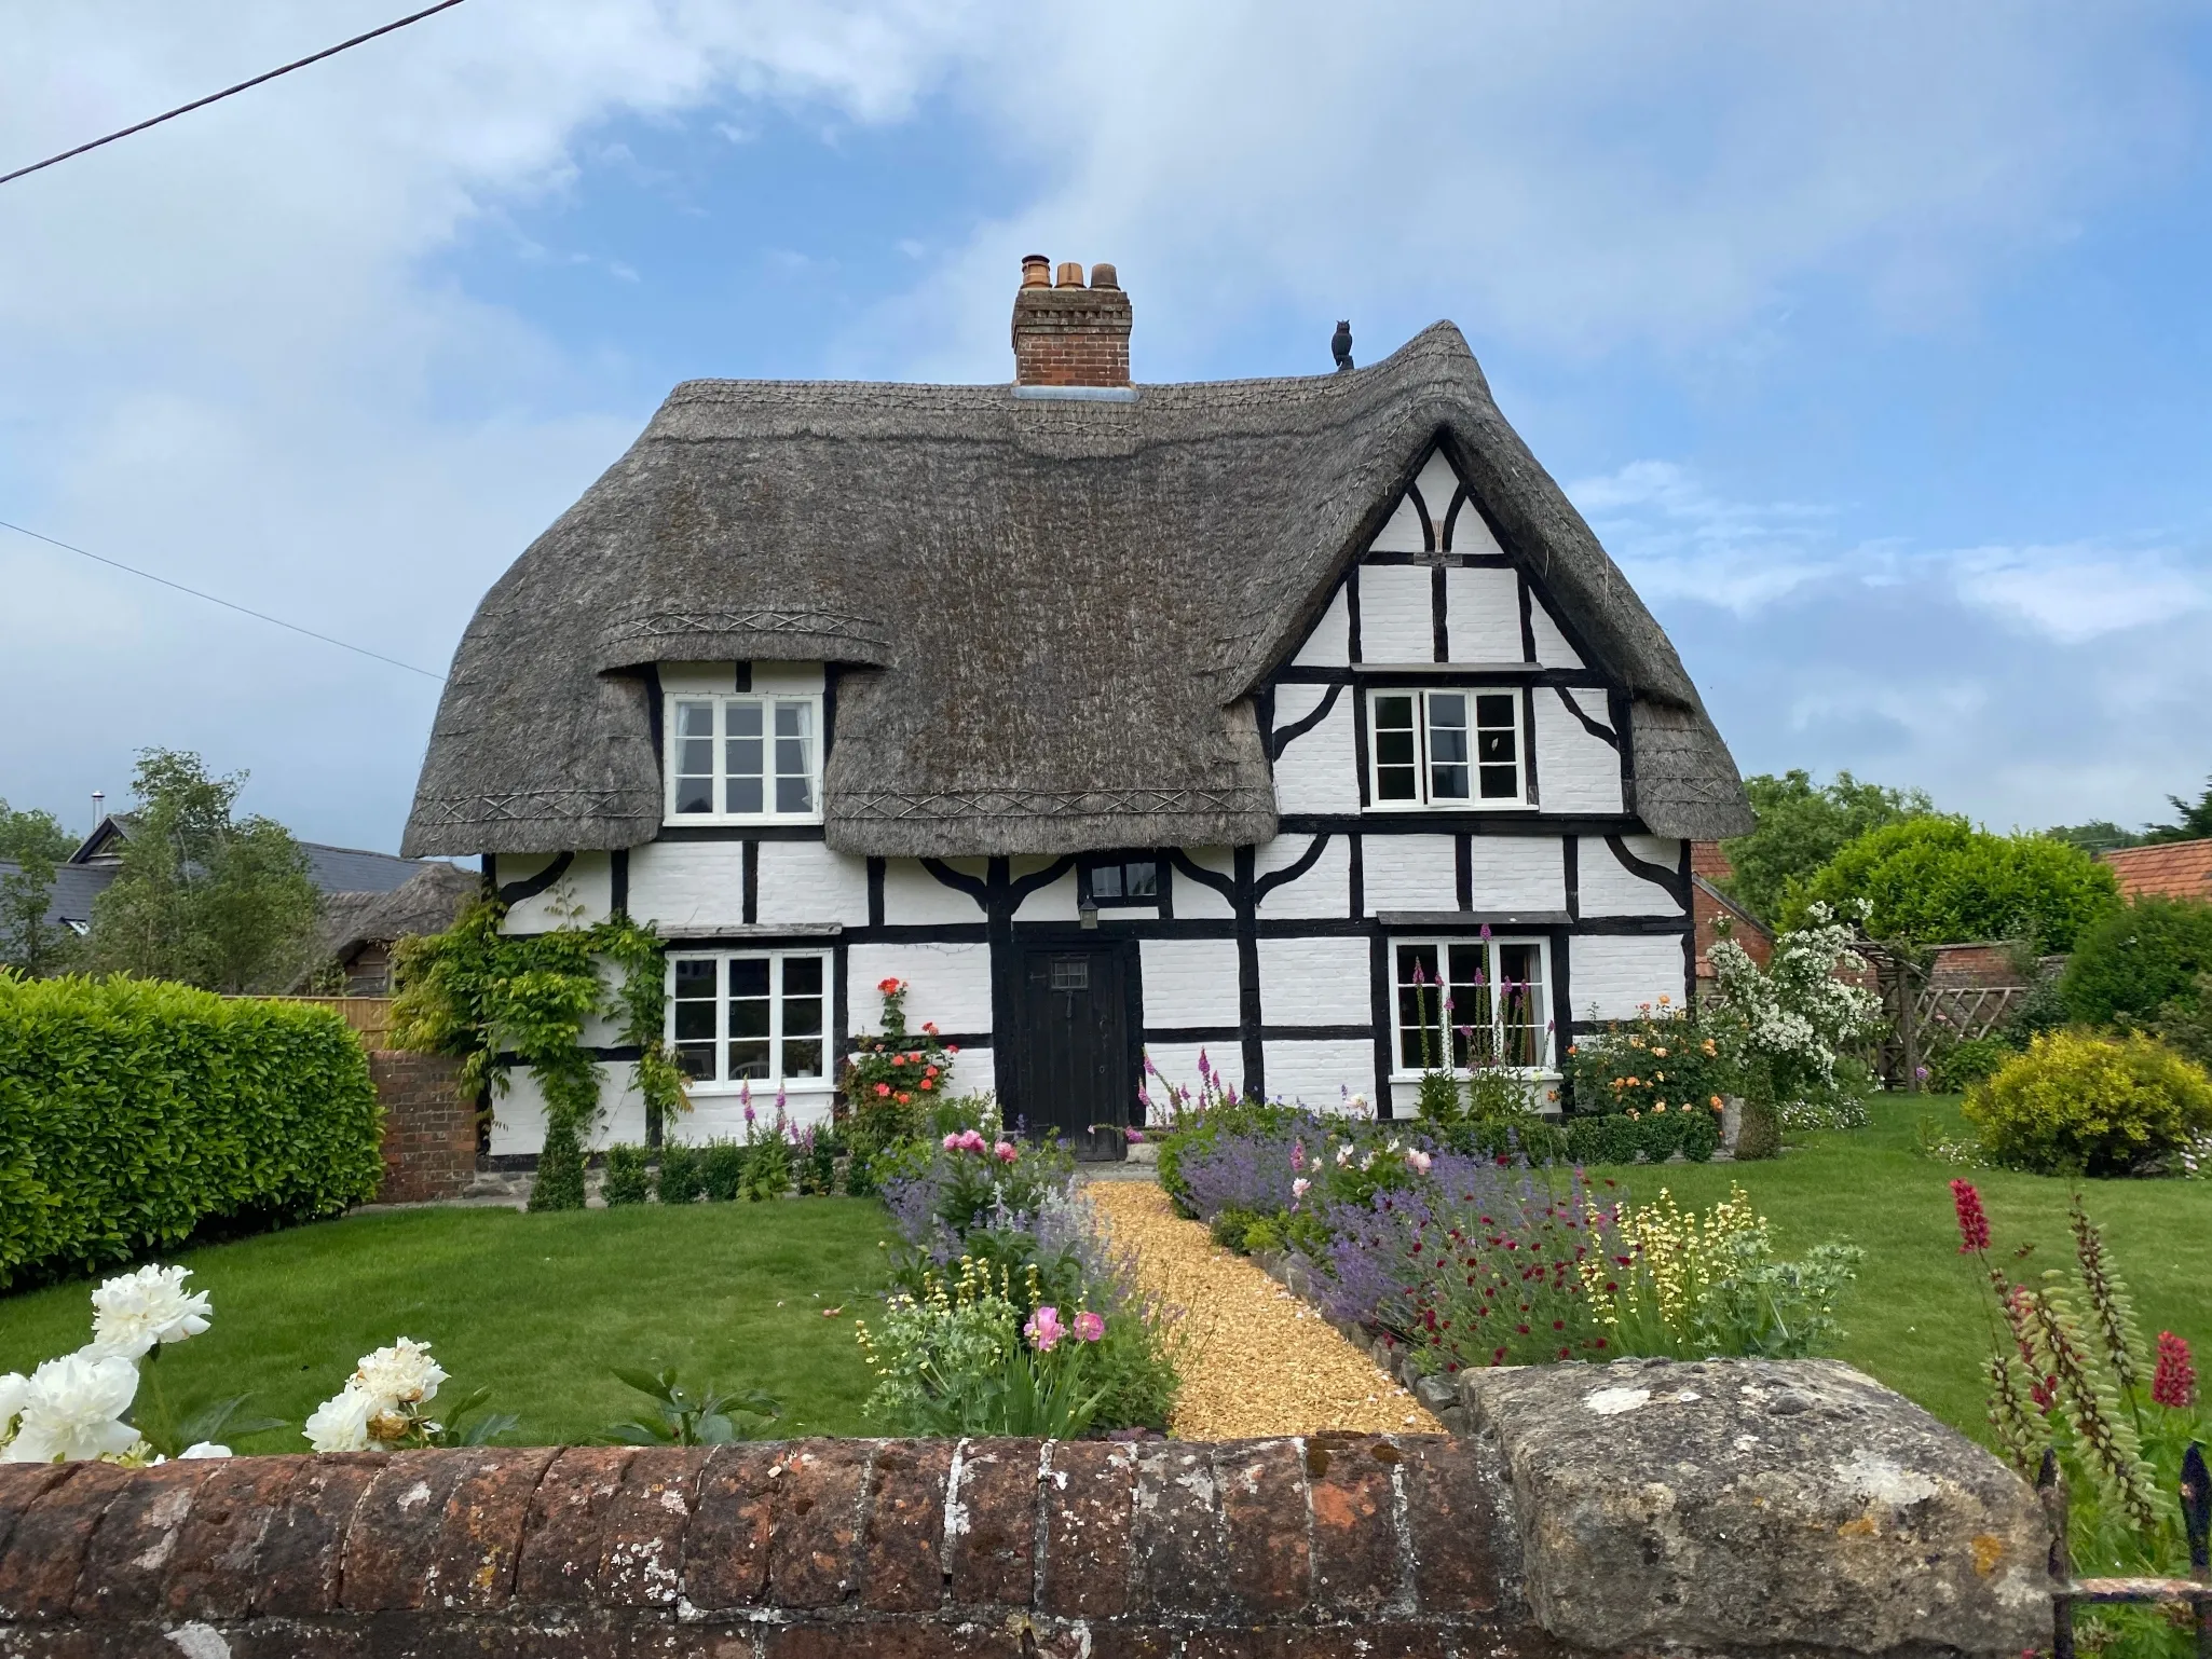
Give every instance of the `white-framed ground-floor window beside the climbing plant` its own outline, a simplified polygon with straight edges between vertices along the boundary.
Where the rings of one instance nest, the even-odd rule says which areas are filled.
[[[668,958],[668,1042],[697,1084],[825,1079],[827,1015],[825,951]]]

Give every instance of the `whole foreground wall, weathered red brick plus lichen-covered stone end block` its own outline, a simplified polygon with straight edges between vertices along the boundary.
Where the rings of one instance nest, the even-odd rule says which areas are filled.
[[[0,1464],[0,1655],[2017,1655],[2033,1493],[1849,1367],[1491,1371],[1467,1436]]]

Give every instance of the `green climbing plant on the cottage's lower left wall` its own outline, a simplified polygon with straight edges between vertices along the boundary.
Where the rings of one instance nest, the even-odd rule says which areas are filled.
[[[473,1091],[504,1091],[515,1055],[544,1097],[546,1133],[538,1152],[533,1210],[584,1206],[584,1139],[599,1117],[599,1066],[584,1046],[595,1015],[613,1020],[635,1046],[633,1079],[646,1108],[686,1110],[684,1073],[661,1042],[668,989],[661,940],[617,916],[531,938],[500,931],[507,907],[482,898],[445,931],[398,945],[394,1037],[403,1048],[453,1055]],[[622,978],[608,984],[606,971]]]

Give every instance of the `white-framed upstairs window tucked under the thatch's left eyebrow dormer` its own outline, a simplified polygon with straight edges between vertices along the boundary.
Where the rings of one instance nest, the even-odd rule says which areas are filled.
[[[668,699],[670,823],[821,823],[816,695]]]

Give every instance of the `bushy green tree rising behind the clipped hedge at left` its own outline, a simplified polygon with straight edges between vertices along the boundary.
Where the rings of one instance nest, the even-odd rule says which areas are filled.
[[[139,752],[137,812],[115,883],[93,900],[86,964],[208,991],[283,989],[314,953],[321,896],[274,818],[237,818],[246,774]]]

